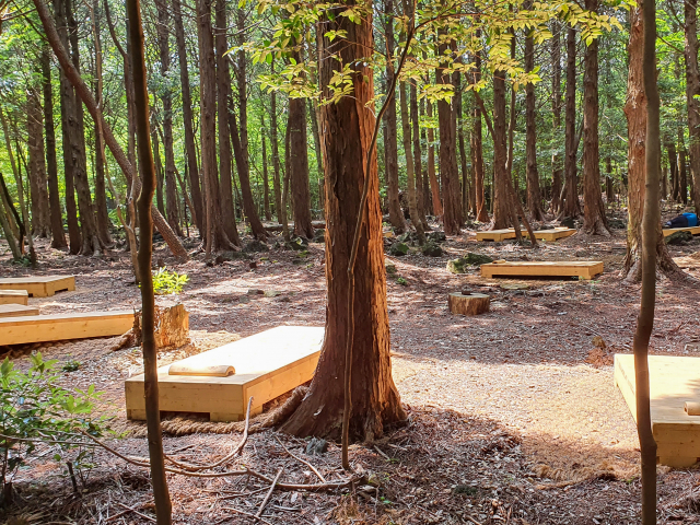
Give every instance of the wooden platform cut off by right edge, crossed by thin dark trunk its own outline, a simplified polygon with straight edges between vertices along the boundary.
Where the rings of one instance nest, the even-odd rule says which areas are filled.
[[[650,355],[652,432],[657,460],[670,467],[689,467],[700,458],[700,416],[688,416],[686,401],[700,401],[700,358]],[[637,419],[634,358],[615,355],[615,384]]]

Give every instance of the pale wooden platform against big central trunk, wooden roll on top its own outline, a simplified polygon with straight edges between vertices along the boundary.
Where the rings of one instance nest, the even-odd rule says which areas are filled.
[[[250,415],[260,413],[265,402],[313,377],[323,338],[324,328],[279,326],[177,363],[198,369],[231,365],[235,374],[228,377],[170,375],[171,365],[161,366],[160,408],[238,421],[253,396]],[[143,374],[128,378],[125,390],[127,418],[144,420]]]

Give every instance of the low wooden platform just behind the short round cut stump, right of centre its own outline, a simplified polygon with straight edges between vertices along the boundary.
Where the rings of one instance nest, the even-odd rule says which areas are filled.
[[[481,265],[481,277],[581,277],[593,279],[603,273],[599,260],[572,261],[493,261]]]

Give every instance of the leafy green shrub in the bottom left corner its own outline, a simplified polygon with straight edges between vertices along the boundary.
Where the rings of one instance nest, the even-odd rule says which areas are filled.
[[[82,432],[101,436],[108,432],[107,417],[93,416],[102,393],[69,390],[59,385],[56,360],[42,353],[31,357],[26,372],[5,359],[0,365],[0,481],[3,494],[16,469],[49,445],[56,462],[70,462],[84,481],[92,467],[94,443]],[[74,480],[73,480],[74,481]]]

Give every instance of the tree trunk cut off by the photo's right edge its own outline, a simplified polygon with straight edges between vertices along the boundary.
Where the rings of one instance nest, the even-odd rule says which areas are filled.
[[[700,213],[700,70],[698,69],[698,0],[684,2],[686,34],[686,104],[688,107],[688,130],[690,141],[690,176],[692,180],[692,201],[696,213]]]

